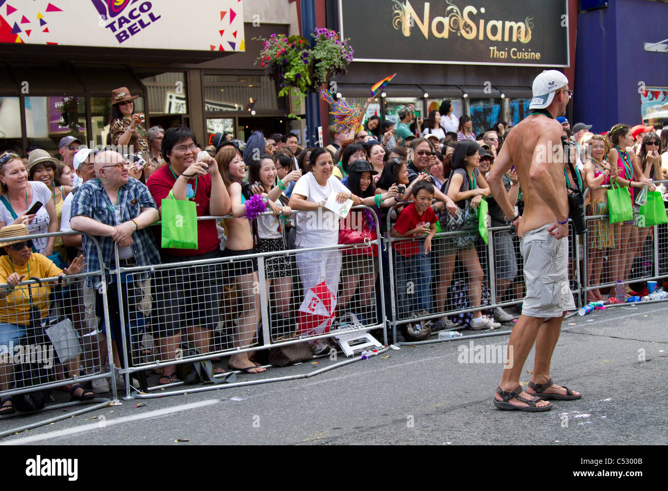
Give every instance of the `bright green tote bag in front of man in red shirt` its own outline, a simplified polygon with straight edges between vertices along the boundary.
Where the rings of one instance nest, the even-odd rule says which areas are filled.
[[[162,247],[197,249],[197,205],[190,200],[174,199],[169,192],[162,200]]]

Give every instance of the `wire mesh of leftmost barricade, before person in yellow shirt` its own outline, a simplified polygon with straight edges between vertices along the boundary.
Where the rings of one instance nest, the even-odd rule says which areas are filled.
[[[0,286],[6,292],[0,301],[0,394],[109,373],[106,345],[98,338],[95,291],[84,285],[83,277],[70,282],[44,278]],[[102,305],[98,307],[102,314]]]

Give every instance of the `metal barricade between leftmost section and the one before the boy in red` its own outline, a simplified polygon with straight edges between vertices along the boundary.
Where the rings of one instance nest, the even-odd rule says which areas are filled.
[[[353,211],[363,209],[369,210],[369,212],[371,212],[371,216],[373,216],[373,220],[375,222],[374,226],[377,236],[380,236],[378,218],[375,212],[373,212],[373,210],[367,206],[355,206],[352,208]],[[271,213],[267,212],[264,214]],[[229,218],[232,217],[206,216],[199,217],[198,220],[224,220]],[[317,217],[315,226],[318,226]],[[207,294],[212,294],[212,296],[207,298],[220,299],[220,304],[218,306],[218,310],[216,311],[218,315],[215,315],[215,313],[212,313],[211,311],[207,312],[200,309],[196,315],[190,316],[190,318],[193,320],[197,319],[201,322],[202,319],[204,319],[206,322],[210,323],[210,325],[216,324],[212,328],[199,330],[200,352],[197,355],[184,356],[184,350],[182,350],[180,352],[172,351],[174,354],[170,355],[169,357],[163,357],[160,355],[152,360],[139,358],[137,356],[136,348],[138,345],[138,339],[136,339],[136,337],[132,337],[132,328],[136,326],[130,325],[130,329],[128,330],[126,327],[126,323],[128,322],[126,315],[120,315],[119,320],[121,326],[120,335],[122,349],[124,353],[130,353],[130,357],[126,357],[124,359],[124,366],[119,370],[120,373],[122,373],[122,375],[125,377],[126,382],[124,398],[164,397],[166,395],[176,395],[185,392],[238,387],[240,385],[255,385],[258,383],[270,383],[275,381],[311,377],[318,373],[322,373],[323,371],[351,363],[352,361],[357,361],[360,359],[360,357],[355,356],[350,359],[338,361],[337,363],[333,363],[328,367],[301,375],[263,378],[262,375],[253,374],[251,376],[255,379],[250,381],[205,384],[201,386],[184,385],[184,383],[181,381],[175,381],[165,385],[146,387],[146,390],[142,391],[138,390],[137,387],[134,387],[135,390],[131,390],[131,387],[134,385],[131,381],[133,378],[132,375],[147,369],[172,367],[176,365],[182,365],[184,363],[192,363],[194,361],[204,361],[213,357],[239,355],[240,353],[247,353],[249,351],[264,351],[266,349],[285,347],[296,343],[303,343],[305,341],[315,341],[317,339],[335,337],[336,335],[348,333],[366,333],[368,331],[374,330],[381,332],[381,334],[379,334],[379,336],[382,337],[381,342],[384,345],[387,345],[384,308],[385,299],[383,294],[384,279],[383,272],[381,271],[381,268],[379,268],[379,259],[375,261],[362,259],[364,256],[363,254],[342,254],[342,251],[345,253],[352,253],[355,251],[359,252],[360,250],[368,251],[371,247],[377,247],[380,249],[381,240],[377,238],[376,240],[367,241],[366,243],[361,244],[336,244],[326,247],[309,247],[269,253],[252,253],[232,257],[216,257],[212,259],[187,261],[182,263],[166,263],[148,267],[122,267],[118,263],[117,254],[116,265],[111,273],[114,276],[114,283],[116,283],[115,287],[118,289],[118,299],[120,304],[119,311],[124,312],[124,309],[126,308],[124,304],[126,303],[127,305],[132,303],[132,305],[136,306],[139,305],[141,301],[145,301],[147,291],[146,288],[144,288],[142,291],[142,289],[138,289],[137,287],[134,287],[133,291],[123,291],[122,285],[136,282],[136,279],[140,279],[141,281],[144,281],[145,279],[152,279],[153,284],[150,287],[150,291],[152,292],[152,299],[150,300],[152,305],[150,310],[152,313],[150,315],[148,324],[150,325],[150,331],[153,333],[155,333],[156,330],[160,331],[160,329],[166,328],[168,325],[168,323],[164,321],[164,319],[166,319],[168,316],[163,315],[160,317],[156,315],[156,308],[158,307],[159,302],[158,299],[153,296],[158,291],[164,291],[165,280],[168,281],[166,286],[170,287],[170,285],[172,285],[170,282],[174,281],[174,279],[191,281],[193,279],[197,279],[198,277],[209,277],[212,284],[222,285],[222,289],[215,292],[215,295],[213,295],[212,292],[207,292]],[[351,259],[346,260],[346,256]],[[358,311],[361,307],[364,307],[361,311],[361,318],[356,319],[355,321],[355,319],[352,317],[345,317],[344,319],[340,319],[339,315],[335,315],[331,317],[331,329],[329,329],[329,331],[321,331],[319,328],[323,326],[323,319],[326,317],[325,311],[331,307],[331,295],[329,295],[331,294],[331,289],[329,289],[329,284],[327,283],[327,281],[329,281],[327,279],[327,275],[331,273],[331,269],[328,269],[329,263],[327,263],[327,261],[333,257],[341,257],[339,281],[335,282],[337,283],[338,292],[334,293],[334,295],[337,300],[342,296],[339,294],[342,292],[341,287],[343,286],[345,275],[351,276],[353,275],[352,273],[358,273],[355,276],[359,277],[360,283],[367,277],[377,277],[377,281],[374,281],[372,285],[378,283],[379,287],[373,286],[371,288],[371,297],[366,298],[365,303],[363,304],[361,304],[359,301],[359,293],[354,295],[355,299],[358,299],[356,303],[353,304],[353,297],[349,299],[349,304],[353,304]],[[322,286],[319,289],[315,289],[316,285],[310,286],[309,288],[307,288],[305,285],[301,285],[303,276],[301,273],[301,267],[305,267],[305,258],[309,259],[310,267],[320,268],[319,274],[325,276],[323,279],[326,280],[325,286],[328,287],[327,289],[329,290],[329,294]],[[289,259],[289,263],[287,265],[283,264],[284,259]],[[257,266],[254,264],[256,262]],[[325,265],[325,267],[320,267],[317,263],[321,263]],[[336,264],[336,261],[334,261],[334,264]],[[285,319],[285,317],[283,317],[283,319],[279,319],[279,317],[281,317],[279,315],[280,306],[276,303],[270,303],[269,298],[267,297],[267,272],[271,270],[272,274],[279,275],[278,279],[285,279],[286,277],[280,276],[283,274],[279,273],[280,271],[283,271],[281,270],[281,267],[288,268],[288,271],[290,271],[290,280],[287,283],[291,285],[291,295],[287,311],[294,313],[295,316],[289,317],[288,319]],[[257,276],[254,274],[253,269],[257,269]],[[309,270],[305,269],[303,271]],[[283,282],[282,286],[285,286],[285,283],[286,282]],[[321,283],[322,282],[317,281],[318,285]],[[174,283],[173,286],[176,288],[176,283]],[[192,285],[193,288],[198,286],[199,285]],[[358,286],[360,285],[358,284]],[[292,295],[292,293],[295,291],[299,293],[298,296]],[[236,293],[233,295],[230,292]],[[307,293],[315,305],[315,307],[313,307],[311,310],[315,311],[315,314],[317,315],[305,312],[305,310],[307,310],[307,307],[305,307],[305,295]],[[353,293],[355,293],[354,289]],[[379,299],[376,298],[377,295],[380,296]],[[142,299],[139,297],[142,297]],[[259,299],[259,306],[256,305],[256,299]],[[377,304],[379,305],[378,310],[376,307]],[[215,308],[215,301],[211,301],[210,305]],[[188,307],[190,309],[198,308],[196,305],[192,304],[189,304]],[[285,304],[283,307],[285,307]],[[338,307],[338,305],[336,307]],[[301,313],[303,314],[302,320],[299,318],[300,311],[302,311]],[[331,310],[329,311],[330,314],[332,312],[333,311]],[[236,317],[234,317],[232,313],[234,313]],[[358,315],[360,314],[360,312],[355,313]],[[259,336],[259,333],[261,332],[263,339],[261,342],[256,337],[255,326],[257,325],[257,321],[261,321],[262,326],[261,331],[258,331],[257,333],[257,336]],[[318,323],[318,321],[321,322]],[[308,326],[309,329],[305,329],[305,326]],[[131,333],[130,339],[128,339],[128,331]],[[168,331],[164,332],[166,333]],[[160,333],[160,335],[162,336],[160,339],[168,337],[163,335],[163,333]],[[208,352],[202,351],[201,345],[203,341],[209,341],[208,346],[211,347],[214,345],[213,349],[210,349]],[[158,351],[160,350],[158,350],[155,346],[156,345],[154,345],[154,354],[158,354]],[[385,349],[386,348],[383,348],[383,351]],[[325,354],[332,355],[332,351],[330,350],[329,353],[325,352]],[[265,364],[263,366],[269,365]],[[229,370],[226,371],[226,373],[228,372]],[[164,373],[164,375],[169,374]],[[218,376],[214,378],[218,378]],[[168,391],[167,389],[170,390]]]

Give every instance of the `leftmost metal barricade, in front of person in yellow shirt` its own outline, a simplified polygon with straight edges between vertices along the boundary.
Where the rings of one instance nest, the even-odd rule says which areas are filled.
[[[16,239],[29,240],[75,234],[77,233],[51,232],[17,236]],[[93,236],[89,236],[89,238],[95,244],[100,264],[104,264],[98,240]],[[68,275],[67,283],[64,281],[60,282],[59,277],[41,278],[39,281],[31,277],[26,278],[25,281],[21,281],[19,286],[15,287],[15,291],[21,291],[23,297],[25,297],[27,310],[19,312],[7,309],[6,311],[7,317],[3,319],[3,323],[13,325],[13,331],[8,332],[11,332],[11,337],[15,337],[15,339],[11,339],[9,345],[2,348],[2,353],[0,353],[0,369],[3,370],[2,377],[7,377],[5,379],[7,380],[7,385],[15,385],[15,380],[18,376],[21,377],[23,381],[21,385],[24,386],[1,390],[0,397],[21,395],[40,389],[57,389],[64,385],[110,378],[112,381],[110,387],[112,389],[112,397],[116,399],[116,377],[113,376],[112,340],[109,337],[107,338],[108,354],[106,356],[106,363],[102,363],[100,359],[100,347],[96,338],[98,321],[96,318],[95,295],[93,289],[85,286],[86,277],[100,279],[99,291],[102,293],[103,315],[108,322],[109,312],[107,298],[104,294],[106,291],[106,279],[102,270]],[[53,283],[53,285],[49,286],[48,293],[41,290],[43,283]],[[26,285],[38,285],[38,287],[35,288],[32,286],[26,289]],[[0,289],[4,290],[6,287],[7,283],[0,285]],[[47,298],[41,298],[43,295],[47,295]],[[30,297],[33,299],[32,303]],[[31,307],[35,308],[32,321],[30,316]],[[39,321],[35,320],[37,312],[39,313]],[[31,338],[35,345],[31,344]],[[27,344],[21,344],[22,341],[26,340],[29,341]],[[31,362],[32,365],[43,365],[44,368],[39,371],[26,372],[22,370],[21,372],[17,372],[17,369],[22,364],[28,362]],[[104,365],[107,363],[108,369],[105,369]],[[45,407],[39,411],[21,413],[17,410],[14,414],[2,416],[0,420],[7,420],[23,414],[38,414],[54,409],[83,406],[75,412],[69,412],[45,421],[33,422],[21,428],[0,431],[0,437],[70,418],[76,414],[90,412],[109,405],[110,402],[112,402],[111,399],[104,397],[56,404],[49,404],[49,401],[47,401]]]

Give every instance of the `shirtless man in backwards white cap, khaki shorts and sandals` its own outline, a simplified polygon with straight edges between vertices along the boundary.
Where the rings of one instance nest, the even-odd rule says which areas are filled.
[[[508,341],[512,365],[506,366],[494,405],[502,410],[548,411],[544,399],[579,399],[580,393],[553,384],[550,360],[559,338],[564,312],[573,310],[568,287],[568,198],[561,152],[562,116],[570,100],[568,79],[556,70],[534,79],[530,116],[506,136],[488,176],[490,190],[506,217],[516,226],[524,257],[526,297],[522,315]],[[502,176],[515,166],[524,200],[516,214]],[[527,391],[520,387],[524,361],[536,343],[534,371]]]

